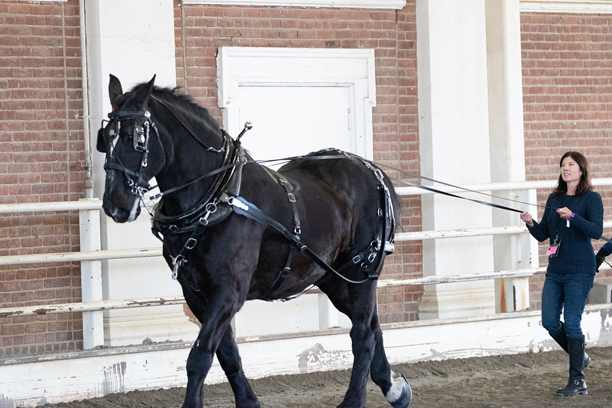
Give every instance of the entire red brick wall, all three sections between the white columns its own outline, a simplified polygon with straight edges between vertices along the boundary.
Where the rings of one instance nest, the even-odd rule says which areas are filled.
[[[219,46],[375,49],[375,160],[419,173],[414,0],[397,12],[176,2],[174,13],[177,84],[219,122]],[[610,174],[611,23],[600,16],[521,15],[528,179],[556,179],[559,157],[570,149],[586,154],[593,177]],[[81,198],[78,2],[0,2],[0,33],[0,203]],[[612,219],[611,189],[597,190]],[[547,195],[542,191],[539,202]],[[420,199],[404,199],[403,231],[420,228]],[[612,237],[612,230],[605,234]],[[76,213],[0,215],[1,254],[74,251],[78,244]],[[421,276],[420,242],[397,247],[382,278]],[[531,281],[532,308],[540,306],[542,282]],[[379,291],[381,322],[417,320],[421,295],[421,286]],[[0,267],[0,307],[79,300],[78,264]],[[77,313],[0,319],[0,356],[80,348],[80,319]]]

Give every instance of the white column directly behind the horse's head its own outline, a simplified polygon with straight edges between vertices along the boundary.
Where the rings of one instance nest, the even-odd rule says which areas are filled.
[[[176,86],[174,9],[172,0],[86,0],[91,143],[97,124],[110,112],[109,74],[121,80],[124,92],[157,75],[158,86]],[[102,198],[104,155],[92,153],[94,196]],[[132,223],[116,224],[102,214],[102,248],[159,247],[151,234],[146,210]],[[182,294],[162,258],[102,262],[104,299],[130,299]],[[140,344],[143,339],[192,339],[198,327],[182,305],[104,312],[107,346]]]

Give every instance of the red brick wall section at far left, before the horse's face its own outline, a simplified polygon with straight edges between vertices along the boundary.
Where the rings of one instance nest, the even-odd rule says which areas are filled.
[[[0,203],[83,196],[78,1],[0,2]],[[0,254],[78,251],[78,212],[0,215]],[[79,302],[78,264],[0,267],[0,308]],[[0,318],[0,356],[82,347],[80,314]]]

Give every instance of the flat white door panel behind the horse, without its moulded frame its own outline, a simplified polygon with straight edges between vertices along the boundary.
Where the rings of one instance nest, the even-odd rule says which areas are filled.
[[[240,123],[252,122],[242,143],[255,160],[304,155],[326,147],[351,150],[346,87],[241,87],[233,103]],[[283,163],[264,163],[278,168]],[[280,272],[280,271],[278,271]],[[320,316],[323,312],[323,317]],[[261,324],[261,316],[267,316]],[[269,317],[273,317],[272,319]],[[237,336],[349,326],[325,295],[291,302],[247,302],[234,320]]]

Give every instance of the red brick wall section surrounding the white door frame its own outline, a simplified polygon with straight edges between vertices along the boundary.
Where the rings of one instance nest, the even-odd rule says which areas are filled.
[[[176,3],[177,84],[221,123],[215,83],[220,46],[373,48],[374,159],[419,172],[415,21],[414,1],[397,12]],[[405,231],[420,229],[420,199],[404,201],[403,224]],[[421,276],[420,248],[420,243],[398,245],[381,278]],[[379,291],[381,322],[418,319],[421,292],[420,286]]]

